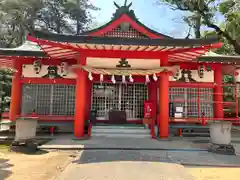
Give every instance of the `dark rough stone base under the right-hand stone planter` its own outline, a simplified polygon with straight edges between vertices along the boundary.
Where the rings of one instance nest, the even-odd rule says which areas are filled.
[[[233,145],[213,144],[211,143],[208,147],[208,152],[223,154],[223,155],[236,155],[235,148]]]

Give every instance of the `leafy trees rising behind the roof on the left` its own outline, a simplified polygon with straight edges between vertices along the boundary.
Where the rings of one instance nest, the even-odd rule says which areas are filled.
[[[79,34],[91,22],[90,0],[0,0],[0,47],[21,45],[35,29]]]

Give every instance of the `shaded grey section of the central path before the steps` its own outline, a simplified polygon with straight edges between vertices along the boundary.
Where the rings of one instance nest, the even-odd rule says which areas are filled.
[[[153,152],[152,152],[153,153]],[[74,163],[88,164],[114,161],[145,161],[145,162],[168,162],[171,160],[167,152],[156,152],[149,154],[144,151],[129,150],[84,150],[79,159]]]

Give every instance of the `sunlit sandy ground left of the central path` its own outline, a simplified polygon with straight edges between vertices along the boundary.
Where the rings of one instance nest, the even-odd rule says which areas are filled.
[[[0,150],[0,179],[51,180],[73,160],[73,152],[24,155]]]

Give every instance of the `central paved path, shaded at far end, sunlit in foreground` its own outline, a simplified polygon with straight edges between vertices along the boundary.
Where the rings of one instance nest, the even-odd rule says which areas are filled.
[[[194,180],[182,165],[138,151],[83,151],[56,180]]]

